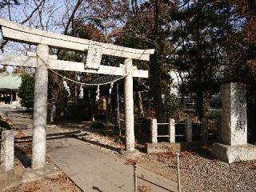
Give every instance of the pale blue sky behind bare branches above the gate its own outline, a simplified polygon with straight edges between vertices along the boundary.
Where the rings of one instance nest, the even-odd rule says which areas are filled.
[[[37,2],[39,3],[40,1],[37,0]],[[46,30],[62,34],[64,31],[63,23],[65,23],[66,18],[70,15],[72,11],[71,7],[74,6],[75,2],[76,0],[46,0],[46,4],[43,6],[42,10],[42,22],[44,25],[48,23]],[[22,22],[31,14],[35,7],[36,5],[33,0],[23,0],[18,6],[10,6],[10,11],[8,6],[2,8],[0,10],[0,17],[6,18],[7,20],[11,19],[14,22]],[[24,23],[24,25],[41,29],[38,11],[36,11],[33,17],[28,22]],[[0,41],[2,41],[2,33],[0,33]],[[4,48],[4,54],[25,55],[28,48],[35,50],[35,46],[29,46],[19,42],[8,42]],[[1,65],[0,68],[2,68]],[[11,72],[13,67],[8,66],[7,70]]]

